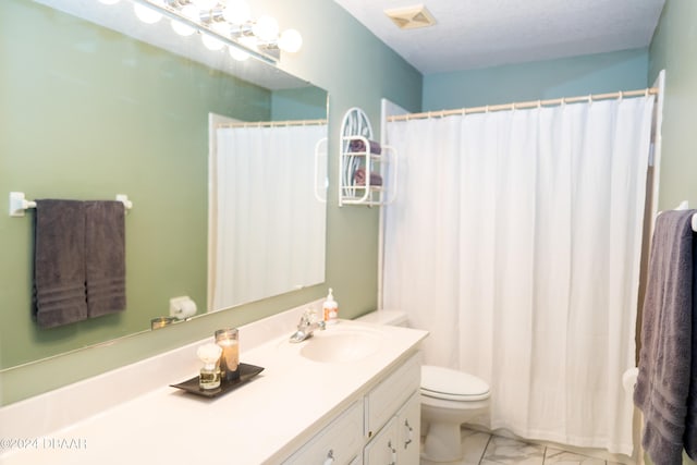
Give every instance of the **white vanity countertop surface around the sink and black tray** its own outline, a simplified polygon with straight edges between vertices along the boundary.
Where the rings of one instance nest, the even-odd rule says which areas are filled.
[[[0,438],[15,441],[0,443],[0,452],[5,452],[0,463],[280,463],[318,432],[325,420],[370,389],[381,374],[417,351],[427,335],[419,330],[347,320],[328,327],[326,333],[342,328],[379,329],[383,332],[379,350],[358,362],[318,363],[298,354],[314,339],[290,344],[290,333],[277,336],[243,350],[241,362],[265,370],[232,392],[204,399],[166,384],[50,435]],[[321,335],[318,332],[316,339]],[[244,341],[243,329],[240,336]]]

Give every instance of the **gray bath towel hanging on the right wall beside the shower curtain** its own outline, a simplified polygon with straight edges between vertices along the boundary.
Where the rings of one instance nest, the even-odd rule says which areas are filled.
[[[682,463],[687,432],[695,357],[695,238],[690,225],[695,212],[659,215],[651,242],[634,403],[644,413],[641,443],[657,465]]]

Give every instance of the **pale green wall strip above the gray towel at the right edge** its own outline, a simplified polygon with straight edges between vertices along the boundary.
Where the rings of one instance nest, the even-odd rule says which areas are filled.
[[[665,70],[659,210],[697,207],[697,2],[667,0],[649,49],[649,82]],[[651,463],[647,458],[647,463]],[[694,464],[686,455],[683,463]]]

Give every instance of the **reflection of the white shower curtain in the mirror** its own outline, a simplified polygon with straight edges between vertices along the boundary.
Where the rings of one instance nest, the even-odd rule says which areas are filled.
[[[326,204],[314,188],[326,134],[326,125],[217,130],[210,308],[325,281]]]

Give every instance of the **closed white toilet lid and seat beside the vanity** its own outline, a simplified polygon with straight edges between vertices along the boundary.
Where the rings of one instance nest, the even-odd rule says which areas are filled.
[[[489,384],[463,371],[424,365],[421,394],[450,401],[481,401],[489,399]]]

